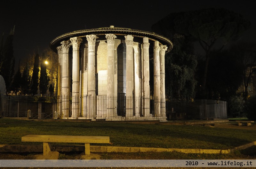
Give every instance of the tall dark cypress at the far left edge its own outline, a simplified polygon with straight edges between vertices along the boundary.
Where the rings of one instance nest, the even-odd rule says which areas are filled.
[[[14,66],[15,66],[15,58],[13,55],[13,44],[12,44],[14,28],[11,29],[11,32],[4,43],[4,47],[2,51],[2,66],[1,66],[0,74],[4,78],[7,92],[11,91],[11,83],[13,79]]]

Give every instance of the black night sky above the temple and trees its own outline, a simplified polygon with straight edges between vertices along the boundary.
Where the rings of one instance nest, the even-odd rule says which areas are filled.
[[[90,1],[1,2],[0,33],[4,32],[6,38],[15,25],[14,56],[16,60],[24,60],[37,48],[41,54],[54,38],[64,33],[110,25],[151,31],[153,24],[172,12],[225,8],[250,20],[252,27],[242,38],[256,39],[256,9],[253,0]]]

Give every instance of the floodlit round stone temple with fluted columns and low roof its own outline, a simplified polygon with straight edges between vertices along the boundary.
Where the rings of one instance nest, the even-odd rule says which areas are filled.
[[[61,35],[51,48],[59,54],[62,118],[166,121],[164,57],[172,49],[169,39],[111,26]],[[149,102],[150,72],[154,109]]]

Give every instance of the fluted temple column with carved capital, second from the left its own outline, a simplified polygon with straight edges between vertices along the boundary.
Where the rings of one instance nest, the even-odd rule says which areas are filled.
[[[69,61],[68,51],[70,42],[60,42],[62,47],[62,68],[61,68],[61,97],[62,97],[62,114],[64,118],[68,118],[69,115]]]

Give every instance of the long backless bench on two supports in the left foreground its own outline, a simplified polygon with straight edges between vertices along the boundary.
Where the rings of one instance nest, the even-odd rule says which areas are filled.
[[[24,142],[43,142],[43,155],[51,152],[50,143],[84,143],[85,155],[90,155],[90,143],[109,143],[108,136],[58,136],[58,135],[26,135]]]

